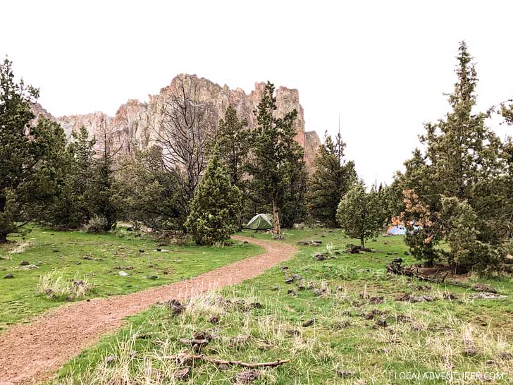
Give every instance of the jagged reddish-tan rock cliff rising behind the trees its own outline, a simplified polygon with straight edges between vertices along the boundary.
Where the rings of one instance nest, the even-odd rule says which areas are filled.
[[[99,137],[99,133],[106,130],[118,143],[122,143],[126,152],[136,149],[144,149],[151,146],[156,140],[160,122],[163,119],[163,108],[168,102],[171,92],[177,90],[178,81],[190,82],[196,87],[197,102],[209,103],[211,109],[218,118],[223,118],[228,105],[237,109],[240,118],[246,118],[249,126],[257,124],[257,117],[253,111],[264,93],[264,82],[255,83],[255,89],[246,94],[244,90],[237,88],[230,90],[227,85],[220,85],[196,75],[178,75],[168,87],[161,89],[159,94],[149,95],[149,102],[139,102],[130,99],[119,107],[116,116],[107,116],[103,112],[94,112],[85,115],[61,116],[56,118],[61,123],[67,135],[81,126],[85,126],[91,135]],[[276,90],[276,104],[278,116],[283,116],[293,109],[297,109],[298,116],[295,121],[296,140],[305,151],[307,166],[313,163],[319,137],[314,131],[304,132],[304,114],[299,104],[299,92],[286,87],[278,87]],[[41,113],[47,114],[41,109]]]

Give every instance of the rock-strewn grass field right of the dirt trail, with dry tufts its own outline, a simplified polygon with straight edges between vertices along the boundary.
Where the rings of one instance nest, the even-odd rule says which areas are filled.
[[[262,233],[244,234],[270,239]],[[188,379],[175,377],[183,367],[172,356],[187,351],[178,339],[191,338],[195,331],[213,336],[202,349],[207,357],[290,360],[261,369],[254,384],[447,384],[444,379],[402,379],[404,372],[500,373],[502,379],[486,383],[513,381],[510,277],[471,278],[471,283],[484,282],[507,295],[478,300],[468,289],[385,274],[385,263],[395,253],[414,262],[404,255],[401,237],[378,237],[368,244],[378,251],[349,255],[345,245],[356,241],[340,231],[304,229],[286,231],[285,236],[289,243],[318,239],[323,244],[301,246],[282,264],[287,269],[275,267],[190,300],[181,315],[157,305],[130,317],[118,333],[68,362],[49,384],[232,384],[245,369],[194,361]],[[326,247],[333,259],[312,257]],[[295,274],[299,280],[285,283]],[[432,300],[397,299],[404,294]],[[210,322],[211,317],[219,323]]]

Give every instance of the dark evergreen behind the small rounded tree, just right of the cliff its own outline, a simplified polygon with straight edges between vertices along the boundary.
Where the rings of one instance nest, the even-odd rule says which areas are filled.
[[[357,178],[354,162],[344,159],[344,149],[345,142],[340,133],[335,137],[335,142],[326,133],[324,143],[316,154],[315,169],[309,183],[309,212],[313,219],[330,227],[338,226],[338,203]]]

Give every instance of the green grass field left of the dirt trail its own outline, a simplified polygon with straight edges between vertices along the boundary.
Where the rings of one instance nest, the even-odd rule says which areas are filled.
[[[124,228],[116,233],[89,234],[35,227],[25,240],[11,240],[16,245],[0,249],[0,331],[66,302],[66,298],[51,299],[37,293],[39,277],[52,270],[66,279],[90,281],[93,291],[87,298],[107,297],[188,279],[262,251],[242,243],[223,248],[159,246]],[[19,252],[12,253],[13,247]],[[37,269],[23,269],[22,261]],[[120,271],[130,275],[120,276]],[[14,278],[4,279],[9,273]]]

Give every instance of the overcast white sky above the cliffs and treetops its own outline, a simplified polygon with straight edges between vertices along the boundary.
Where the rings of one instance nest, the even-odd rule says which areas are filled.
[[[460,40],[478,106],[513,97],[513,1],[0,0],[0,56],[56,116],[146,100],[178,73],[299,89],[306,129],[335,133],[368,183],[402,169],[447,111]],[[512,128],[498,127],[501,137]]]

